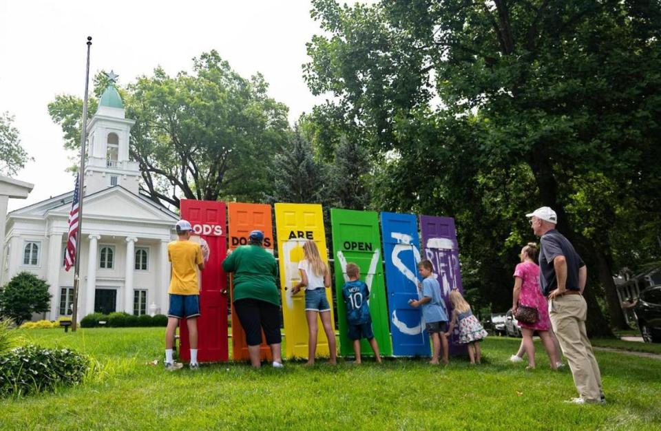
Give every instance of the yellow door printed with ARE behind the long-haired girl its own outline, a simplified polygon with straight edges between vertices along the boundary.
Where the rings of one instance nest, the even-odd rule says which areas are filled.
[[[305,295],[300,291],[291,294],[291,287],[300,282],[298,262],[303,259],[303,242],[314,240],[319,255],[328,262],[324,215],[319,204],[275,204],[275,232],[277,255],[280,264],[280,293],[282,295],[282,317],[284,319],[285,355],[308,357],[308,324],[305,317]],[[333,306],[330,288],[326,289],[328,303]],[[333,322],[333,313],[330,313]],[[317,357],[328,357],[328,339],[321,319],[317,317]],[[333,322],[335,328],[335,322]]]

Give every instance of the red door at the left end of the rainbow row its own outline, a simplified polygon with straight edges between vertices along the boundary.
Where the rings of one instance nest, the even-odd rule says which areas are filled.
[[[200,317],[198,317],[198,361],[227,361],[227,275],[222,261],[227,254],[225,203],[209,200],[181,200],[181,218],[191,222],[193,233],[209,244],[209,261],[200,275]],[[179,324],[179,357],[190,360],[188,328]]]

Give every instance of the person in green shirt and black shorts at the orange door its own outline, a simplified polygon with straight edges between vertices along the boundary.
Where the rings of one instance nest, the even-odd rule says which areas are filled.
[[[226,273],[233,273],[233,305],[246,333],[246,344],[253,367],[260,368],[262,330],[271,347],[273,367],[282,368],[280,335],[280,294],[277,290],[277,263],[264,249],[264,233],[252,231],[248,244],[228,251],[222,262]]]

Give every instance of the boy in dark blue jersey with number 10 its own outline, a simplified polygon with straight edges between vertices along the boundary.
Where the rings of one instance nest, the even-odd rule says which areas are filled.
[[[360,339],[366,338],[374,350],[377,362],[381,362],[379,346],[374,338],[372,330],[372,316],[367,300],[370,298],[370,290],[367,284],[359,280],[360,268],[357,264],[350,262],[346,264],[346,276],[349,281],[342,287],[342,297],[346,304],[346,319],[349,324],[349,338],[353,339],[353,351],[356,354],[356,364],[361,363]]]

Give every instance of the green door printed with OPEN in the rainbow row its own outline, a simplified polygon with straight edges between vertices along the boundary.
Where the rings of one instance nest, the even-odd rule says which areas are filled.
[[[353,262],[360,267],[360,280],[370,289],[370,315],[374,336],[381,355],[392,355],[388,304],[384,286],[383,248],[379,235],[379,216],[373,211],[330,209],[333,227],[333,260],[335,261],[335,291],[337,293],[337,323],[339,326],[339,351],[342,356],[353,356],[353,341],[347,335],[346,305],[342,298],[342,286],[346,277],[346,264]],[[361,354],[374,355],[367,340],[361,341]]]

